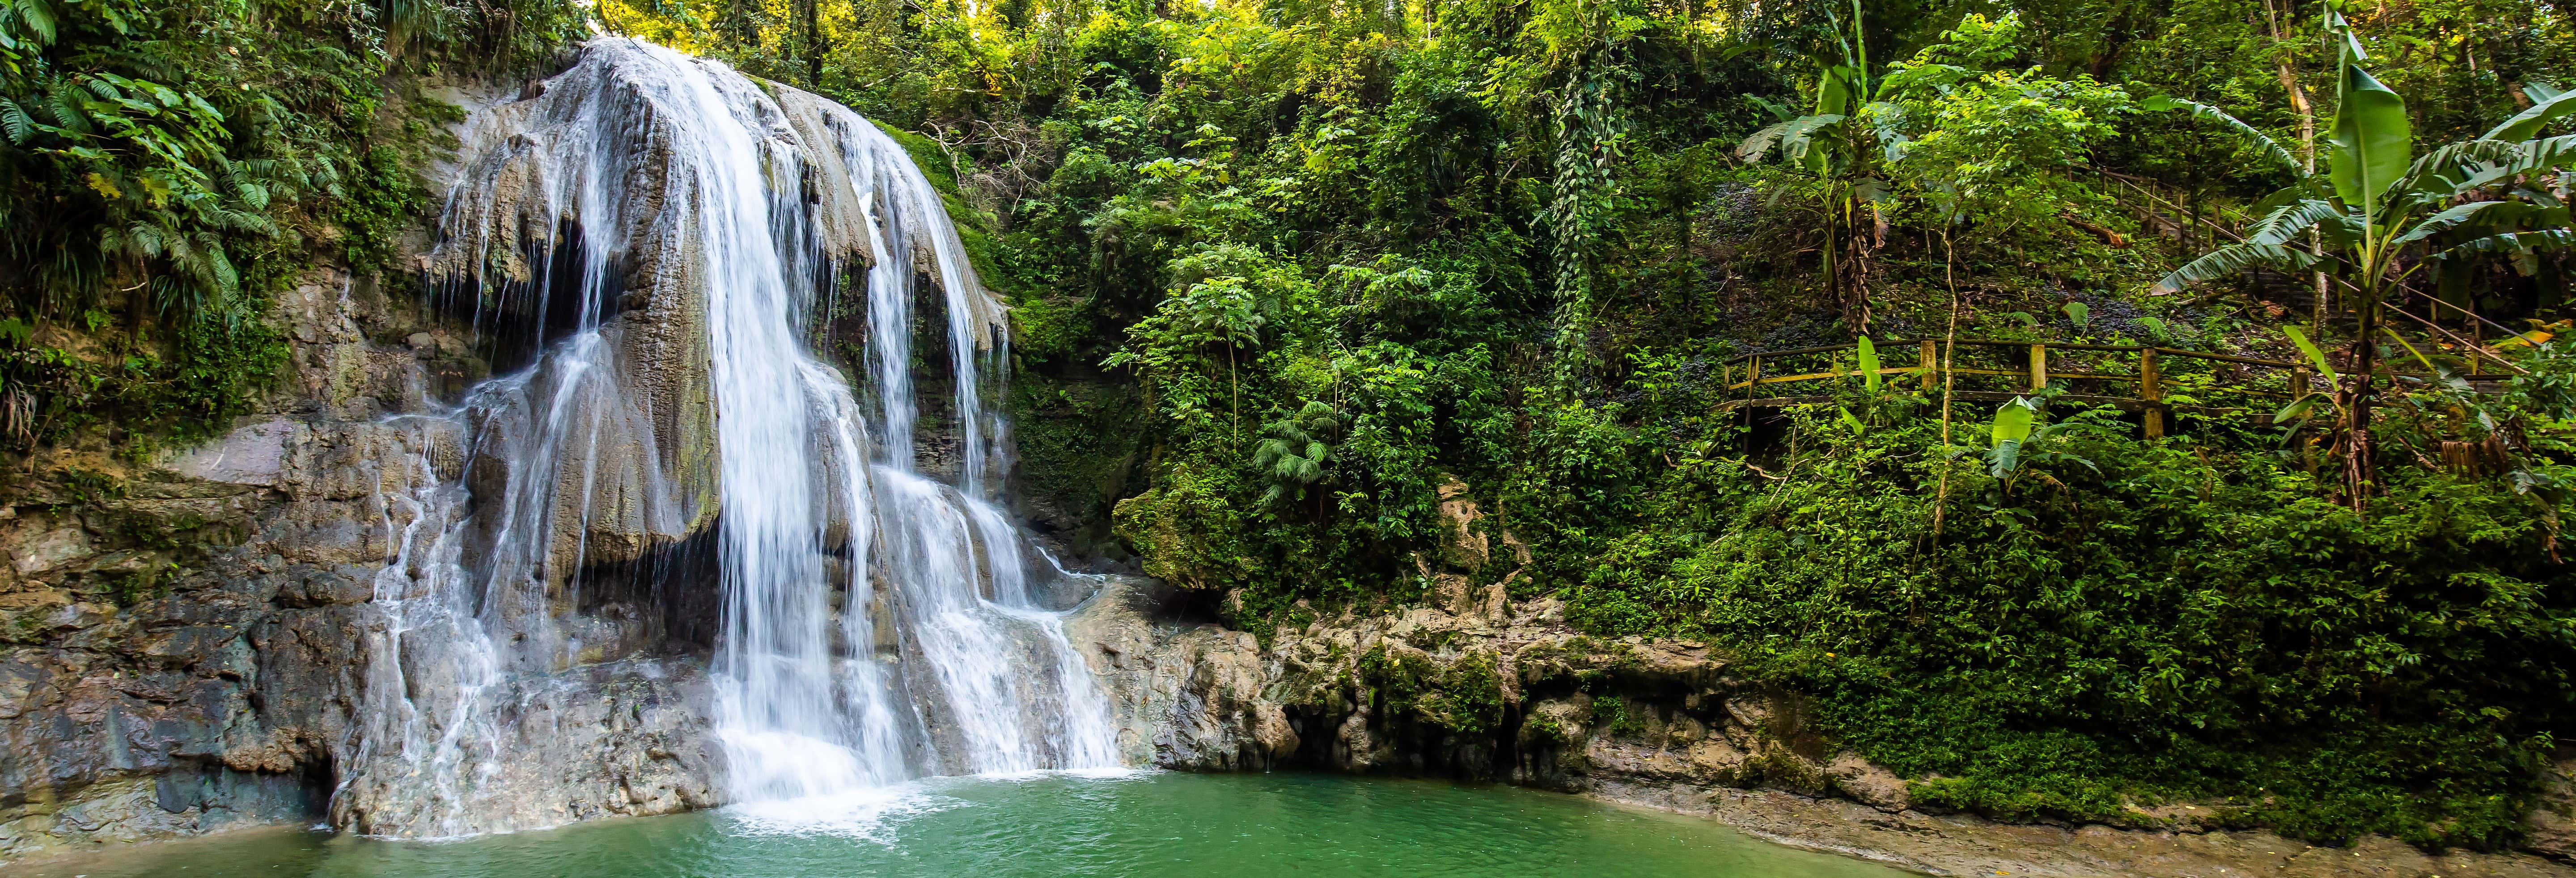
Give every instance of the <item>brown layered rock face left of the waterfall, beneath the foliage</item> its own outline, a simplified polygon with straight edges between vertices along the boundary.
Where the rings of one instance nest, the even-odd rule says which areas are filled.
[[[80,440],[0,481],[0,857],[322,814],[386,497],[459,463],[399,412],[482,363],[337,270],[273,317],[291,368],[229,435],[160,461]]]

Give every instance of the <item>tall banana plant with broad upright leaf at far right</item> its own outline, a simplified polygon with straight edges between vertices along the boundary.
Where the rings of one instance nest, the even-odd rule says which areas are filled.
[[[2576,165],[2576,134],[2540,136],[2550,121],[2576,113],[2576,93],[2537,88],[2532,108],[2483,136],[2416,154],[2406,100],[2362,67],[2370,54],[2336,5],[2326,8],[2326,33],[2339,44],[2326,173],[2303,175],[2264,198],[2257,206],[2264,216],[2244,242],[2177,268],[2156,288],[2179,291],[2257,265],[2280,270],[2324,265],[2344,278],[2357,324],[2344,373],[2352,386],[2339,389],[2344,397],[2336,415],[2344,430],[2344,497],[2360,510],[2375,479],[2367,427],[2375,340],[2388,294],[2427,263],[2483,255],[2527,263],[2540,250],[2576,245],[2568,206],[2543,185],[2548,175],[2563,175]],[[2233,124],[2272,160],[2287,165],[2287,149],[2233,116],[2172,98],[2156,106],[2190,108],[2195,116]],[[2321,242],[2316,250],[2300,247],[2311,232]],[[2437,239],[2447,247],[2437,247]],[[2401,260],[2409,252],[2421,257]]]

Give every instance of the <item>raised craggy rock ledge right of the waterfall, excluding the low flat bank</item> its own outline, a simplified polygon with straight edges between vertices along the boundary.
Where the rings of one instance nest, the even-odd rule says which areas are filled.
[[[1499,597],[1461,592],[1463,613],[1314,621],[1267,649],[1159,618],[1164,602],[1151,579],[1115,579],[1066,626],[1121,705],[1128,752],[1157,765],[1777,785],[1906,808],[1904,780],[1824,752],[1795,698],[1731,677],[1705,646],[1582,636],[1553,600],[1502,615]]]

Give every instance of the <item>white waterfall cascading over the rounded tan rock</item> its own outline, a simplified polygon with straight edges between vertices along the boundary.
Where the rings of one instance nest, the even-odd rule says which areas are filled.
[[[428,270],[536,355],[412,420],[420,451],[397,461],[422,476],[386,502],[397,554],[335,819],[415,837],[577,819],[631,767],[567,778],[526,765],[528,742],[592,687],[662,693],[690,644],[711,654],[724,801],[1118,767],[1108,703],[1036,600],[1036,546],[992,497],[999,304],[891,136],[598,39],[479,111],[464,154]],[[858,263],[873,412],[806,342]],[[943,294],[953,484],[917,466],[917,278]]]

